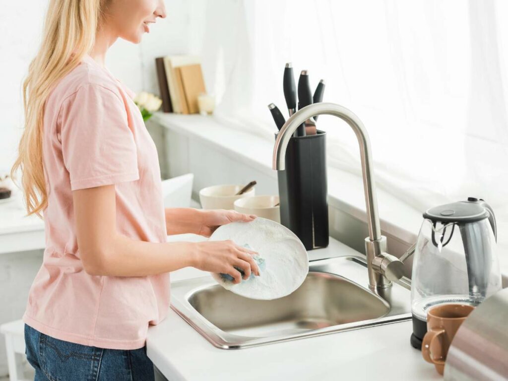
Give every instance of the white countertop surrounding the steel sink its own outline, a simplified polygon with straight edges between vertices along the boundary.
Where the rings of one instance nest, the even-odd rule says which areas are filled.
[[[194,240],[192,235],[171,240]],[[359,255],[330,238],[327,248],[309,251],[309,260]],[[185,268],[171,273],[171,281],[209,276]],[[367,276],[367,272],[365,272]],[[221,380],[432,380],[442,379],[420,351],[409,344],[411,321],[339,332],[241,350],[214,347],[170,309],[166,319],[151,326],[147,354],[171,381]]]

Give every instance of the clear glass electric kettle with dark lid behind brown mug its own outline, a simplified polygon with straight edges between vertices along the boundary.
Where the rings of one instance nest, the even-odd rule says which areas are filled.
[[[427,310],[437,304],[477,306],[501,289],[496,219],[482,199],[428,209],[418,235],[411,276],[411,345],[421,348]]]

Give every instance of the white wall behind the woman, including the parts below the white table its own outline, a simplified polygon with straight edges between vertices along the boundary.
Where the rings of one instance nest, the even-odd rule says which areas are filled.
[[[40,43],[47,0],[4,1],[0,11],[0,175],[9,171],[23,125],[21,86]],[[140,45],[117,41],[107,56],[108,69],[133,91],[158,94],[155,57],[187,53],[185,0],[166,0],[168,17],[158,20]],[[1,218],[2,216],[0,216]],[[28,291],[42,263],[42,251],[0,255],[0,324],[20,319]],[[0,376],[7,374],[0,335]]]

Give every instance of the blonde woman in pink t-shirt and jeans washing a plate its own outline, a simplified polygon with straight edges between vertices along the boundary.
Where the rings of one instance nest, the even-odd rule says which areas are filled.
[[[139,43],[158,17],[163,0],[50,2],[12,170],[22,171],[28,213],[45,222],[23,315],[36,380],[152,380],[145,337],[168,312],[169,272],[259,275],[255,252],[231,241],[166,242],[256,216],[164,210],[155,145],[132,91],[104,67],[117,38]]]

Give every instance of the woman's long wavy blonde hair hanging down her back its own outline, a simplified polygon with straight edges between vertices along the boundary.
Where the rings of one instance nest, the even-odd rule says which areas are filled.
[[[104,0],[50,0],[42,43],[23,83],[25,126],[18,157],[11,169],[21,170],[28,215],[48,205],[42,161],[44,107],[54,85],[72,71],[93,47],[104,14]]]

